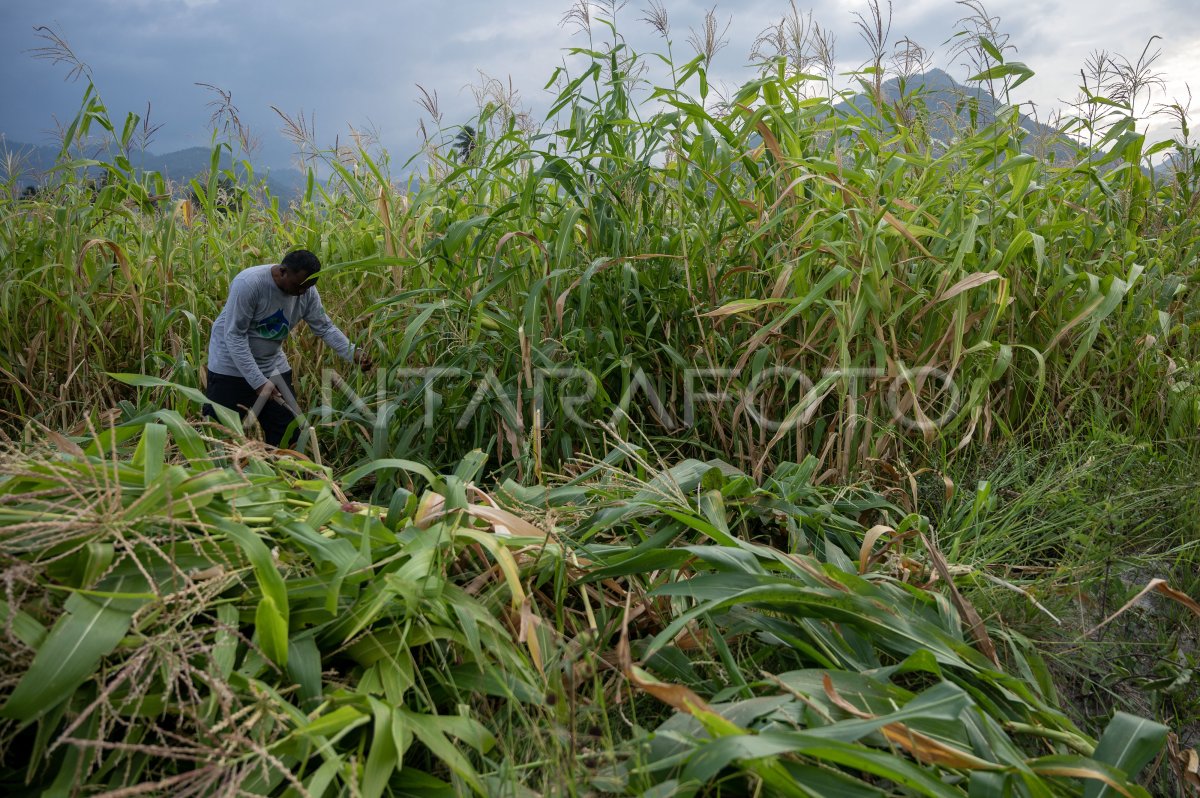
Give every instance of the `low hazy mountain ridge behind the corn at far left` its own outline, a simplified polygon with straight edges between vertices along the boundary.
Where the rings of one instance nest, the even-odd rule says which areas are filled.
[[[36,186],[46,182],[47,174],[54,168],[58,161],[59,148],[38,146],[22,142],[8,142],[0,139],[0,170],[6,174],[17,175],[17,188]],[[96,161],[107,161],[106,154],[88,154]],[[187,193],[187,182],[197,176],[209,173],[212,166],[212,150],[204,146],[190,146],[174,152],[155,154],[149,150],[134,151],[130,154],[130,163],[143,172],[157,172],[169,182],[179,186],[179,193]],[[221,168],[228,169],[233,161],[228,152],[222,152]],[[277,197],[281,204],[298,199],[305,188],[305,175],[292,167],[264,167],[253,164],[256,179],[265,178],[266,187],[271,196]],[[236,170],[240,173],[241,167]],[[97,170],[98,174],[98,170]]]

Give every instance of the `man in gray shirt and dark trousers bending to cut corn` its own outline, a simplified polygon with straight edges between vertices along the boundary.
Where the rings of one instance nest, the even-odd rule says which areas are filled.
[[[242,410],[244,419],[253,410],[263,438],[272,446],[294,440],[294,432],[284,440],[295,415],[280,391],[286,386],[290,398],[292,366],[283,341],[294,325],[307,322],[342,359],[353,360],[362,371],[372,367],[367,353],[325,316],[316,288],[319,271],[320,260],[307,250],[289,252],[277,264],[251,266],[229,283],[229,299],[212,324],[205,396]],[[204,414],[215,416],[211,406],[204,407]]]

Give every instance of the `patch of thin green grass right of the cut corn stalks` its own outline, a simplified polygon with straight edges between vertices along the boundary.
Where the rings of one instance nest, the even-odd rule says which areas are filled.
[[[1063,706],[1093,727],[1120,707],[1195,745],[1200,473],[1187,448],[1093,428],[982,454],[956,475],[955,496],[926,505],[941,540],[973,569],[982,610],[1036,641]],[[1144,593],[1156,580],[1176,593]]]

